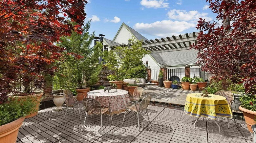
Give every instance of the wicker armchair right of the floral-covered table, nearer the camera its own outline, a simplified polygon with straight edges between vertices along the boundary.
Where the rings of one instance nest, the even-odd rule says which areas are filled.
[[[142,98],[140,98],[140,99],[142,99]],[[139,100],[140,100],[139,99]],[[125,115],[126,115],[126,112],[128,111],[128,110],[130,110],[130,111],[134,111],[134,112],[136,112],[137,113],[137,117],[138,117],[138,127],[139,127],[139,112],[140,111],[142,111],[142,110],[146,110],[146,112],[147,112],[147,116],[148,116],[148,111],[147,111],[147,107],[148,107],[148,104],[149,104],[149,102],[150,102],[150,99],[151,99],[151,96],[149,95],[149,96],[147,96],[147,97],[145,97],[144,99],[142,99],[142,101],[139,103],[139,100],[138,100],[138,103],[136,104],[136,103],[133,103],[133,102],[127,102],[127,104],[126,104],[126,110],[125,110],[125,113],[124,113],[124,117],[123,117],[123,121],[124,121],[124,118],[125,118]],[[135,116],[136,117],[136,116]],[[149,123],[150,123],[150,120],[149,120],[149,117],[148,117],[148,121],[149,121]],[[123,125],[123,122],[122,122],[122,125]]]

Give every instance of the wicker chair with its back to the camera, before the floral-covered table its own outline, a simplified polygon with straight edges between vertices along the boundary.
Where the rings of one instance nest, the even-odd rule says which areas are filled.
[[[85,98],[83,99],[83,104],[84,104],[84,108],[85,108],[85,119],[84,119],[84,124],[85,124],[85,120],[87,115],[101,115],[101,135],[102,135],[102,114],[106,113],[107,111],[109,111],[110,113],[110,103],[105,103],[104,106],[100,106],[100,103],[98,101],[96,101],[95,99],[91,99],[91,98]],[[108,104],[108,107],[106,107],[106,105]],[[110,115],[110,119],[112,121],[112,125],[113,125],[113,120],[112,117]],[[110,119],[109,119],[109,123],[110,123]],[[84,130],[84,125],[83,125],[83,129]]]

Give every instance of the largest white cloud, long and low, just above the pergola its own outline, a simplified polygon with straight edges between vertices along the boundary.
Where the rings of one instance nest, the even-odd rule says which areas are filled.
[[[188,23],[185,21],[163,20],[150,24],[137,23],[133,26],[133,28],[143,34],[166,37],[172,35],[179,35],[178,33],[183,33],[184,30],[195,26],[196,24]]]

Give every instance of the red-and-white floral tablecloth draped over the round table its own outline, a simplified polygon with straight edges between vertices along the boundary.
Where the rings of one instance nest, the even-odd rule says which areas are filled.
[[[117,92],[114,91],[116,91],[116,89],[111,89],[109,92],[104,92],[104,89],[89,91],[87,98],[97,100],[101,106],[109,102],[111,116],[113,116],[113,114],[124,113],[126,103],[130,101],[128,92],[122,89],[117,89]],[[107,112],[107,114],[110,115],[109,112]]]

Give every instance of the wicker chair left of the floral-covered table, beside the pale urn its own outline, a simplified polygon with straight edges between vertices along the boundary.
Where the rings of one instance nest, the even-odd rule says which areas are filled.
[[[68,107],[73,106],[73,112],[72,113],[74,113],[74,108],[75,108],[75,105],[77,104],[78,105],[78,110],[79,110],[80,120],[82,120],[81,119],[81,114],[80,114],[79,104],[82,104],[83,101],[77,101],[77,99],[74,98],[73,93],[68,89],[63,90],[63,94],[64,94],[65,103],[66,103],[66,106],[67,106],[64,119],[66,117]],[[78,94],[82,94],[82,93],[78,93]],[[84,96],[84,94],[82,94],[82,95]]]

